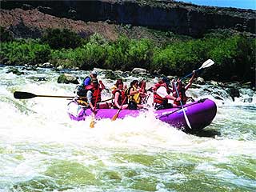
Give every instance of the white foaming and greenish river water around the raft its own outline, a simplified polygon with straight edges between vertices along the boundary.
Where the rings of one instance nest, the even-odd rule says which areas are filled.
[[[223,99],[214,99],[218,113],[198,135],[176,130],[150,112],[101,120],[90,129],[90,119],[70,120],[65,98],[13,97],[15,90],[74,95],[75,85],[57,83],[64,71],[17,69],[24,74],[0,67],[0,191],[256,190],[254,91],[239,88],[241,97],[233,102],[220,86],[190,89],[195,98]],[[99,78],[113,85],[104,74]]]

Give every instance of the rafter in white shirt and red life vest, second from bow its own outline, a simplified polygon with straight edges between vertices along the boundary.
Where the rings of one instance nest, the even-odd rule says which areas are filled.
[[[153,87],[154,93],[154,108],[155,110],[163,110],[175,107],[172,102],[176,99],[179,101],[181,98],[175,98],[171,95],[171,90],[169,88],[170,80],[168,78],[162,78]]]

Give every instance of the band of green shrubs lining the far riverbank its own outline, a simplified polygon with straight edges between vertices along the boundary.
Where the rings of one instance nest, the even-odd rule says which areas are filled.
[[[211,58],[216,63],[215,69],[211,70],[211,74],[206,72],[206,77],[227,80],[236,75],[245,81],[254,78],[256,39],[241,34],[209,34],[201,39],[175,39],[158,45],[147,38],[130,39],[124,36],[110,42],[100,34],[94,34],[87,40],[74,36],[67,38],[65,32],[70,34],[67,30],[48,31],[41,41],[1,42],[1,58],[5,58],[9,64],[50,61],[56,67],[77,67],[82,70],[94,67],[132,70],[142,67],[150,72],[161,70],[163,74],[180,75],[197,69],[202,62]],[[54,39],[62,39],[59,35],[65,36],[66,41],[54,42]],[[75,43],[70,44],[73,40]]]

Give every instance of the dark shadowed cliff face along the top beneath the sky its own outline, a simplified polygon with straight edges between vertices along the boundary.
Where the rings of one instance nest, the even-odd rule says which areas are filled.
[[[256,34],[255,10],[194,6],[172,1],[2,1],[1,8],[38,9],[58,18],[147,26],[192,37],[201,37],[214,29]]]

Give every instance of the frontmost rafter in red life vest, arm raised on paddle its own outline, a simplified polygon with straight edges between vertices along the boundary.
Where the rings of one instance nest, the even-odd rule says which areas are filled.
[[[193,83],[193,80],[194,80],[194,76],[195,76],[195,70],[193,70],[192,72],[192,77],[190,78],[190,81],[186,84],[186,86],[184,86],[182,84],[182,81],[178,78],[177,80],[177,90],[178,90],[178,94],[177,94],[177,91],[175,90],[175,85],[174,85],[174,80],[172,81],[172,85],[173,85],[173,96],[174,96],[174,106],[180,106],[181,105],[181,102],[182,101],[182,105],[185,105],[188,98],[186,96],[186,90],[188,90],[190,88],[190,86],[192,85]],[[180,98],[180,100],[178,99]]]

